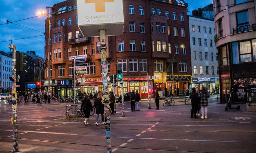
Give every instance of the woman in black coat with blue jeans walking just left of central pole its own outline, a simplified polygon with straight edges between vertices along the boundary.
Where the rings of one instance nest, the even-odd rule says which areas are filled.
[[[102,100],[103,100],[102,92],[99,92],[97,98],[94,101],[94,107],[96,108],[96,119],[95,119],[96,126],[98,126],[98,120],[99,120],[100,114],[101,114],[102,124],[105,124],[105,122],[104,122],[104,105],[102,103]]]

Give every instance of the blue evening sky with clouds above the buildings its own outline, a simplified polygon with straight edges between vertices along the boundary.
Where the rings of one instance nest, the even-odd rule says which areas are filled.
[[[52,7],[53,4],[63,1],[65,0],[0,0],[0,6],[2,6],[0,10],[0,17],[9,20],[10,22],[34,17],[37,16],[37,11],[45,10],[45,7]],[[192,0],[185,0],[185,2],[188,4],[190,4],[191,1]],[[188,8],[188,11],[198,9],[198,7],[203,8],[211,3],[212,0],[194,0],[191,6]],[[188,14],[191,15],[191,12],[188,12]],[[0,18],[0,24],[6,23],[6,20]],[[43,35],[42,32],[45,32],[44,20],[45,17],[40,16],[15,22],[15,24],[20,26],[14,24],[0,25],[0,50],[10,52],[9,44],[11,44],[11,41],[2,41]],[[37,31],[33,31],[21,26],[26,26]],[[36,55],[44,58],[44,36],[14,40],[12,44],[16,45],[16,50],[18,51],[26,52],[27,50],[34,50],[36,51]]]

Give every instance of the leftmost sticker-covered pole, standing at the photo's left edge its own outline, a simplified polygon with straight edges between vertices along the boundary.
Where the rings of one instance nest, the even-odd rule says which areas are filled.
[[[13,67],[12,67],[13,91],[12,91],[12,94],[15,95],[14,98],[12,98],[13,117],[11,118],[11,123],[13,124],[13,152],[18,152],[19,146],[18,146],[18,118],[17,118],[17,93],[16,93],[16,45],[10,44],[9,48],[13,50],[13,52],[12,52],[12,62],[13,62]]]

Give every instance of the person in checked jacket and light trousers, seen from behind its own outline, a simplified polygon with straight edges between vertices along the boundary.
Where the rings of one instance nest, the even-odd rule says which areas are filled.
[[[208,106],[208,98],[210,97],[209,93],[206,91],[205,87],[202,87],[202,91],[199,93],[198,97],[200,98],[200,106],[202,119],[207,119],[207,106]]]

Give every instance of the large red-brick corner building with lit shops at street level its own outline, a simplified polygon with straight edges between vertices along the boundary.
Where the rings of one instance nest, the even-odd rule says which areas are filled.
[[[51,13],[51,91],[59,96],[72,95],[73,62],[69,57],[76,55],[87,55],[87,74],[76,75],[78,91],[102,91],[100,41],[98,37],[82,37],[76,9],[76,0],[46,8],[47,13]],[[192,78],[186,9],[183,0],[123,0],[123,35],[106,36],[106,42],[108,74],[111,76],[123,68],[125,92],[138,90],[142,97],[147,97],[149,73],[151,87],[172,94],[172,63],[175,91],[189,88]],[[47,19],[45,31],[48,31],[48,24]],[[45,36],[45,59],[47,57],[48,35]],[[158,79],[152,80],[152,76]],[[47,86],[48,70],[45,71],[45,89]],[[116,94],[120,94],[120,88],[118,83]],[[109,90],[112,90],[111,84]]]

